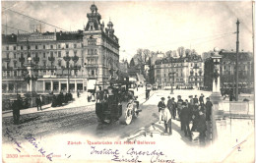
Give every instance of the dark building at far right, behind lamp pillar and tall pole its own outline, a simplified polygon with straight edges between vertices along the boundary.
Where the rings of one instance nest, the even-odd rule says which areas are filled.
[[[236,53],[233,51],[221,51],[221,88],[222,90],[235,87],[235,60]],[[239,52],[238,54],[238,88],[239,92],[251,92],[254,87],[253,55],[249,52]],[[205,61],[205,87],[209,90],[213,88],[213,61],[211,58]]]

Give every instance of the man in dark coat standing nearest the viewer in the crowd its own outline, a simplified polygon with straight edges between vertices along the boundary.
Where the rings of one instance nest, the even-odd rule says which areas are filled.
[[[204,115],[204,113],[201,110],[199,111],[197,130],[199,132],[200,145],[204,146],[205,139],[206,139],[207,127],[206,127],[206,116]]]

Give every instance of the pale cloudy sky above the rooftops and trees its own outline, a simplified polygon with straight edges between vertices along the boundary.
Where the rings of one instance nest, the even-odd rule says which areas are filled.
[[[94,1],[2,1],[2,7],[66,30],[83,29]],[[236,21],[239,49],[252,52],[252,2],[250,1],[95,1],[101,22],[111,20],[119,38],[120,59],[130,60],[138,48],[166,52],[178,47],[199,54],[215,47],[235,51]],[[2,8],[2,25],[30,31],[38,24]],[[2,26],[3,27],[3,26]],[[6,32],[3,27],[2,32]],[[45,26],[54,31],[55,27]],[[57,28],[57,30],[60,30]]]

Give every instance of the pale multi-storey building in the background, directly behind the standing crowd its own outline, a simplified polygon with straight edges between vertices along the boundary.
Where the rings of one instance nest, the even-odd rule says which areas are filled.
[[[204,63],[200,56],[164,58],[155,64],[155,80],[159,87],[203,86]]]

